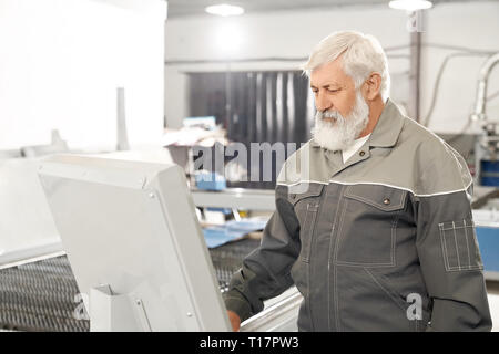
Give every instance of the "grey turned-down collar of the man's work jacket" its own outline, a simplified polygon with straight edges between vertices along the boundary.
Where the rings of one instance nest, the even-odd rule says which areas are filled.
[[[404,126],[404,115],[400,108],[388,98],[383,108],[376,126],[370,134],[368,144],[374,147],[393,147],[397,143],[400,131]],[[314,138],[310,140],[314,147],[320,147]]]

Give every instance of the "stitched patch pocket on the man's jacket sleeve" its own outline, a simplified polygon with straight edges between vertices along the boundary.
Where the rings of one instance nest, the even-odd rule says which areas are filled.
[[[438,227],[446,271],[483,269],[471,219],[440,222]]]

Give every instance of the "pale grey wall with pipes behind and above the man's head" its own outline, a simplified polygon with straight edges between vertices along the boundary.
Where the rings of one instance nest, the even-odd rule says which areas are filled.
[[[422,18],[420,119],[427,117],[441,61],[457,49],[469,46],[499,51],[499,2],[445,3]],[[245,14],[237,18],[169,19],[165,27],[165,116],[170,127],[180,127],[189,115],[185,72],[297,69],[313,46],[333,31],[355,29],[374,34],[387,49],[391,73],[391,97],[403,106],[409,100],[410,33],[407,14],[387,6],[343,7],[309,11]],[[489,33],[483,35],[482,33]],[[233,59],[231,64],[213,63]],[[296,61],[235,62],[258,58],[287,58]],[[439,133],[458,132],[470,113],[481,56],[449,60],[440,81],[430,128]],[[191,61],[191,62],[190,62]],[[192,61],[197,61],[192,63]],[[205,62],[203,62],[205,61]],[[492,74],[489,93],[498,87],[499,73]],[[496,104],[495,104],[496,102]],[[499,100],[489,105],[497,112]],[[496,107],[492,107],[492,105]]]

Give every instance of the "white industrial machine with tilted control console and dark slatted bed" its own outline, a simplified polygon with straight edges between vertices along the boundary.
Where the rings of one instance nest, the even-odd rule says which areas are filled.
[[[208,250],[179,166],[59,155],[39,175],[64,252],[0,267],[0,327],[230,330],[221,293],[259,241]],[[301,301],[289,289],[242,331],[296,330]]]

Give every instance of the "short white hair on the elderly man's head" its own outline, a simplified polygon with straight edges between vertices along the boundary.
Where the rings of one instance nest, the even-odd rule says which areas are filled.
[[[357,31],[338,31],[323,39],[302,66],[309,77],[315,69],[335,61],[343,54],[343,70],[354,80],[358,88],[366,79],[376,72],[381,76],[380,94],[383,101],[389,96],[390,74],[385,51],[379,41]]]

